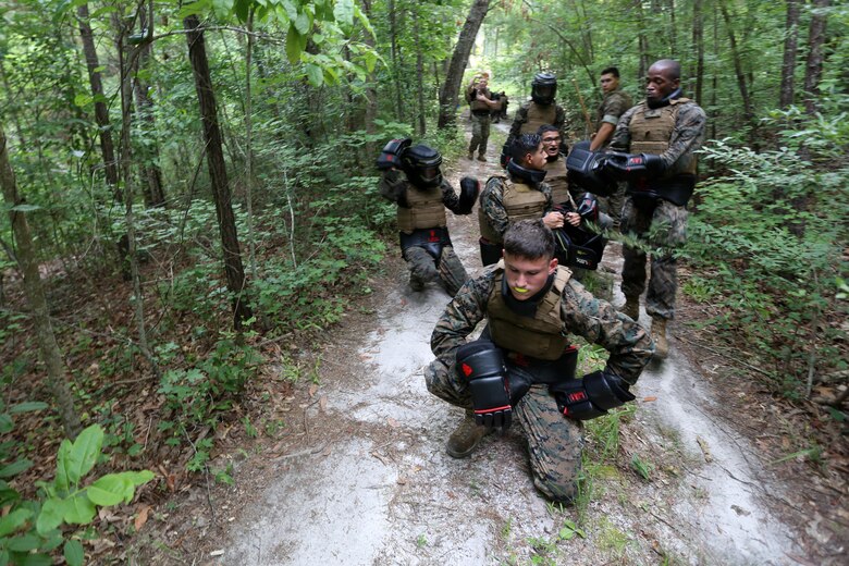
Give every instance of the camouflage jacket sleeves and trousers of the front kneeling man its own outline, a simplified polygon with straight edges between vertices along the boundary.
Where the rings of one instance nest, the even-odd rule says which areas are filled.
[[[456,371],[456,353],[487,317],[490,296],[501,292],[495,288],[499,271],[497,267],[489,268],[483,275],[466,282],[445,308],[431,335],[431,349],[436,359],[424,370],[428,391],[465,409],[472,407],[471,393],[468,381]],[[607,370],[633,384],[654,350],[643,328],[617,312],[608,303],[593,297],[583,285],[571,279],[561,297],[563,334],[580,335],[603,346],[611,353]],[[484,330],[484,336],[487,334]],[[521,371],[534,374],[545,364],[551,364],[528,358],[525,358],[525,364],[513,362],[515,358],[508,345],[499,346],[505,348],[508,379]],[[514,410],[527,435],[534,485],[551,500],[570,502],[577,493],[580,471],[581,423],[563,417],[545,385],[532,385]]]

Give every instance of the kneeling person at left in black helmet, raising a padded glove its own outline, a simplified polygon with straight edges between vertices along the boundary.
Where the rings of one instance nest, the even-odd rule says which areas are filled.
[[[480,193],[472,177],[460,180],[459,196],[442,176],[442,156],[411,140],[392,139],[377,160],[382,171],[381,196],[397,205],[401,251],[409,269],[409,286],[422,291],[429,281],[441,281],[454,296],[468,279],[448,235],[445,209],[470,214]]]

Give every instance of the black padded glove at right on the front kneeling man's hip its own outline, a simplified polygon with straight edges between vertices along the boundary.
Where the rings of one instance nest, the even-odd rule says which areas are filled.
[[[593,371],[583,379],[555,383],[549,387],[549,392],[554,395],[564,417],[589,420],[633,401],[636,397],[628,387],[628,383],[615,373]]]

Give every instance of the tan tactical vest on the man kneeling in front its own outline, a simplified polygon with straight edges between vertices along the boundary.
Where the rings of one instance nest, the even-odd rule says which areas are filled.
[[[537,306],[533,318],[515,313],[502,296],[504,260],[495,269],[495,281],[487,303],[492,341],[500,347],[518,352],[537,359],[555,360],[569,345],[568,336],[563,333],[561,302],[571,271],[563,266],[557,268],[554,283]]]

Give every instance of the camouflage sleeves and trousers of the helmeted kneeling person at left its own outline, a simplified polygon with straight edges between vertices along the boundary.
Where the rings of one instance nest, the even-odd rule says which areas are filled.
[[[399,208],[408,208],[407,192],[418,190],[407,180],[407,176],[397,170],[389,170],[383,173],[379,189],[384,198],[395,202]],[[447,181],[443,180],[440,189],[442,190],[442,204],[448,210],[456,212],[459,208],[459,197],[454,192],[454,188]],[[430,227],[445,226],[434,225]],[[410,285],[417,291],[423,288],[427,281],[441,280],[447,293],[454,296],[468,279],[463,262],[450,244],[442,247],[439,259],[434,259],[424,248],[418,246],[408,247],[402,254],[410,271]]]

